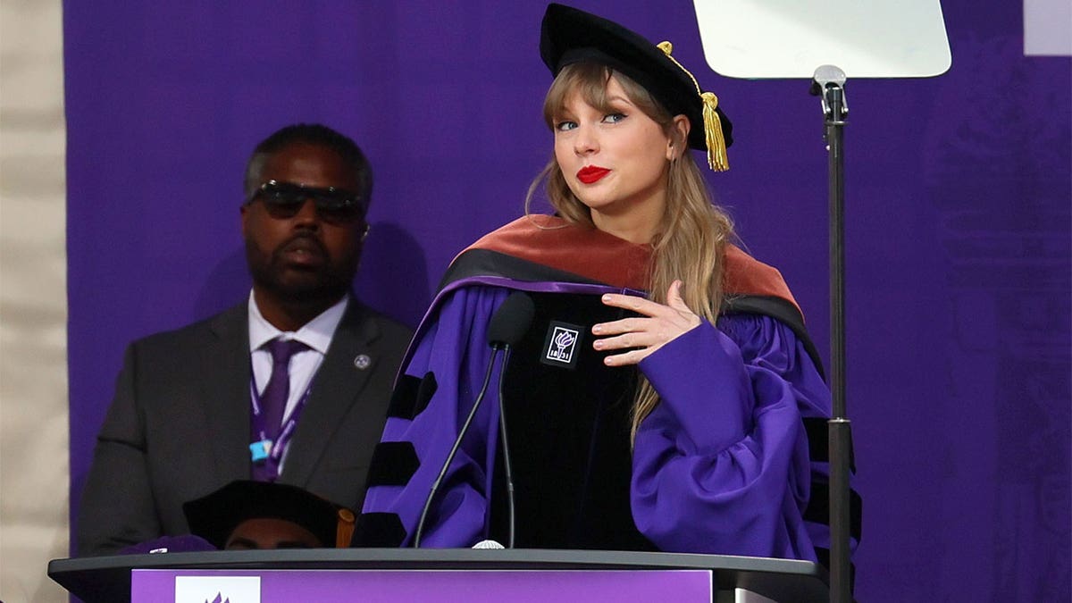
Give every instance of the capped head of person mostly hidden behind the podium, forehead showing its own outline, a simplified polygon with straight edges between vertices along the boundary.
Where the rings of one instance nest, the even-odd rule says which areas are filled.
[[[182,505],[190,532],[223,550],[348,546],[354,513],[287,484],[239,480]]]

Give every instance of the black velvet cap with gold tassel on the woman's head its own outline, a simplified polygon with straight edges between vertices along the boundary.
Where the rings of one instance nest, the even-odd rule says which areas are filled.
[[[718,98],[703,92],[693,74],[670,56],[669,42],[658,45],[616,23],[563,4],[544,14],[539,54],[553,75],[568,64],[594,61],[621,72],[644,87],[671,115],[688,117],[688,146],[708,151],[716,172],[729,170],[726,148],[733,126]],[[702,124],[702,128],[700,127]]]

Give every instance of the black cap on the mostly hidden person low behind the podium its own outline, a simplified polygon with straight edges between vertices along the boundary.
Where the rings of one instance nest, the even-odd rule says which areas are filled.
[[[247,519],[293,521],[313,533],[325,547],[334,547],[341,527],[353,529],[354,513],[309,490],[288,484],[236,480],[202,498],[184,502],[190,532],[217,548]],[[348,536],[344,538],[348,545]]]

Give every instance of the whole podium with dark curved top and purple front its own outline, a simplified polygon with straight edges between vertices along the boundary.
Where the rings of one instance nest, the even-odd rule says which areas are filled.
[[[85,603],[829,601],[809,561],[612,550],[276,549],[56,559]]]

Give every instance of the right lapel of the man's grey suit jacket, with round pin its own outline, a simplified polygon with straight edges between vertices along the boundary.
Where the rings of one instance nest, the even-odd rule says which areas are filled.
[[[379,329],[373,321],[362,320],[362,313],[360,303],[351,298],[324,363],[313,378],[309,402],[286,452],[280,476],[285,483],[299,486],[309,483],[313,471],[324,460],[328,442],[373,373],[378,358],[372,343],[379,337]],[[355,364],[361,354],[370,363],[363,370]]]

